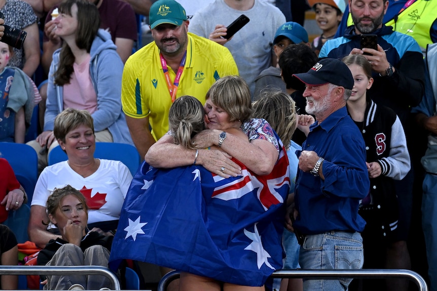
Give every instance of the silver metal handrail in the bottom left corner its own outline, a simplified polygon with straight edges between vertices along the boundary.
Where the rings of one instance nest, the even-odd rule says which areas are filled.
[[[103,275],[114,282],[114,290],[120,290],[120,282],[110,269],[101,266],[0,266],[0,275]]]

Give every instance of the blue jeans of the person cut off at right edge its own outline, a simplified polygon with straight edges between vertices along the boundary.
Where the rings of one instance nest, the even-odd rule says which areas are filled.
[[[423,179],[422,228],[428,259],[429,290],[437,290],[437,175]]]

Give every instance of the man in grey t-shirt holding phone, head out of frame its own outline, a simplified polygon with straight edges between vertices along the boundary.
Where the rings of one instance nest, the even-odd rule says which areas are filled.
[[[228,25],[242,14],[249,22],[227,39]],[[217,0],[194,14],[189,29],[229,49],[253,98],[257,76],[271,65],[276,66],[272,40],[283,23],[285,16],[267,1]]]

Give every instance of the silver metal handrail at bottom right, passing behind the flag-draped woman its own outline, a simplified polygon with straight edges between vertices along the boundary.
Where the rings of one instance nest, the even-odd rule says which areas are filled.
[[[168,284],[179,277],[179,271],[165,274],[159,281],[158,291],[165,291]],[[403,269],[360,269],[360,270],[279,270],[273,278],[391,278],[403,277],[415,281],[420,291],[428,291],[425,280],[418,273]]]

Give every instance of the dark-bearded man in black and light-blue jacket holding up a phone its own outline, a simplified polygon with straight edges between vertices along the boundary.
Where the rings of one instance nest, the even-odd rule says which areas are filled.
[[[346,29],[344,36],[326,41],[319,57],[341,59],[349,54],[365,54],[372,65],[374,78],[368,96],[375,103],[390,107],[399,116],[406,132],[409,152],[413,154],[417,152],[417,145],[415,145],[414,123],[410,108],[419,104],[424,93],[423,56],[413,37],[393,31],[391,26],[383,24],[387,8],[388,0],[349,0],[349,10],[354,25]],[[369,38],[367,40],[372,40],[371,36],[363,36],[363,34],[377,36],[376,49],[361,48],[361,40],[362,43],[369,43],[365,41],[365,37]],[[411,157],[411,161],[413,168],[420,159]],[[379,257],[380,265],[371,268],[411,268],[407,237],[412,216],[413,182],[412,170],[403,180],[394,182],[400,214],[398,235],[392,240],[387,238],[381,240],[381,248],[373,253],[376,254],[384,248],[386,260],[384,262]],[[372,250],[365,250],[365,252],[373,254]],[[366,266],[366,262],[365,268],[370,268]],[[408,282],[404,279],[387,280],[387,287],[387,290],[407,290]]]

